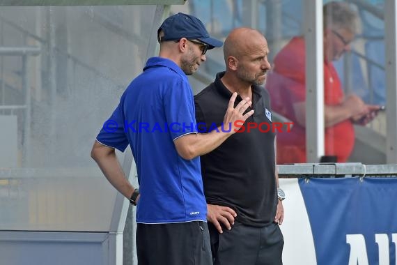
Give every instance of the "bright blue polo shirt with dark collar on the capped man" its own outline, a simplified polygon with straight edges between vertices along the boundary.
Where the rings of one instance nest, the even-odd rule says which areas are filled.
[[[169,59],[148,59],[97,137],[120,151],[131,146],[141,192],[137,222],[207,220],[200,158],[183,159],[173,144],[189,133],[197,130],[187,76]]]

